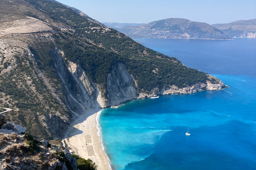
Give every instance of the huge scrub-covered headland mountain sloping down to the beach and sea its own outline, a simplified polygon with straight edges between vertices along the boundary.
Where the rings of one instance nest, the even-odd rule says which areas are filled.
[[[0,21],[0,106],[40,139],[90,109],[227,87],[56,2],[1,1]]]

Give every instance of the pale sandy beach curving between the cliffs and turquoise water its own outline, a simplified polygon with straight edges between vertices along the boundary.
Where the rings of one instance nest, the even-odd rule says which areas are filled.
[[[79,155],[79,157],[85,159],[90,158],[98,165],[98,170],[110,170],[110,161],[102,148],[102,139],[97,134],[98,111],[99,109],[91,110],[70,123],[62,143],[65,147],[70,147],[74,154]],[[101,134],[101,131],[99,131],[99,134]],[[86,135],[90,135],[90,137]],[[87,152],[87,148],[90,149],[89,153]],[[94,155],[92,155],[91,148],[94,151]]]

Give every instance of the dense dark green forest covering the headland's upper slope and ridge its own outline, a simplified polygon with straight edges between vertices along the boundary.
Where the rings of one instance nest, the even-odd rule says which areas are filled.
[[[183,87],[206,82],[205,73],[182,65],[178,59],[146,48],[114,29],[90,22],[61,4],[46,0],[27,1],[55,21],[73,28],[73,31],[54,34],[56,45],[64,51],[68,60],[80,63],[87,75],[105,89],[106,76],[118,62],[128,67],[142,91],[168,85]],[[153,72],[156,68],[158,71]]]

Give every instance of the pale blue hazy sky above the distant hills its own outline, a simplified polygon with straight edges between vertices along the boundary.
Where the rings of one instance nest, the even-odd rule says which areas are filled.
[[[100,22],[186,18],[208,24],[256,18],[256,0],[57,0]]]

